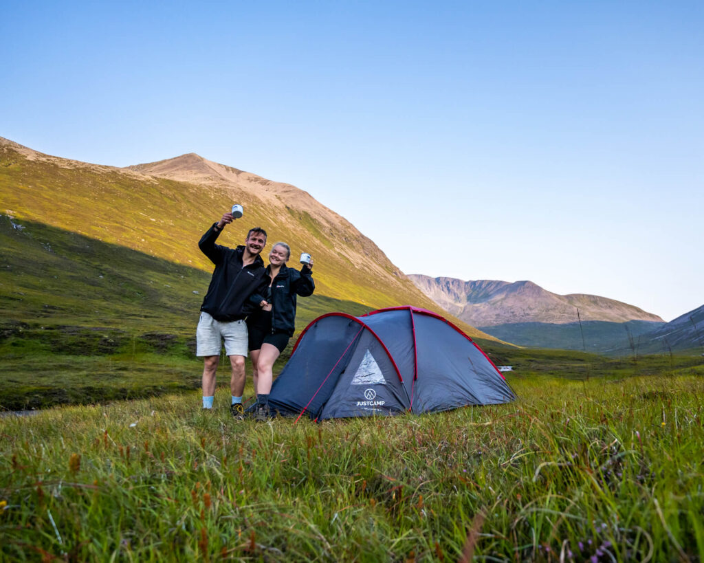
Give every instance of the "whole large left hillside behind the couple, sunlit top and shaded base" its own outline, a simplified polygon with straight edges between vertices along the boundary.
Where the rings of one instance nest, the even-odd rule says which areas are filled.
[[[289,241],[294,257],[315,257],[317,289],[299,300],[298,329],[330,311],[433,308],[344,218],[294,186],[244,176],[241,186],[180,182],[0,138],[0,408],[199,387],[194,330],[213,265],[197,243],[234,202],[245,219],[218,242],[237,246],[261,225],[270,244]]]

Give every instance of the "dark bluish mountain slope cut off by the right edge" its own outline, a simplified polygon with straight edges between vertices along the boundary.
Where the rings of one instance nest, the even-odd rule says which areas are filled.
[[[654,331],[641,334],[634,342],[639,353],[691,351],[704,355],[704,305]]]

